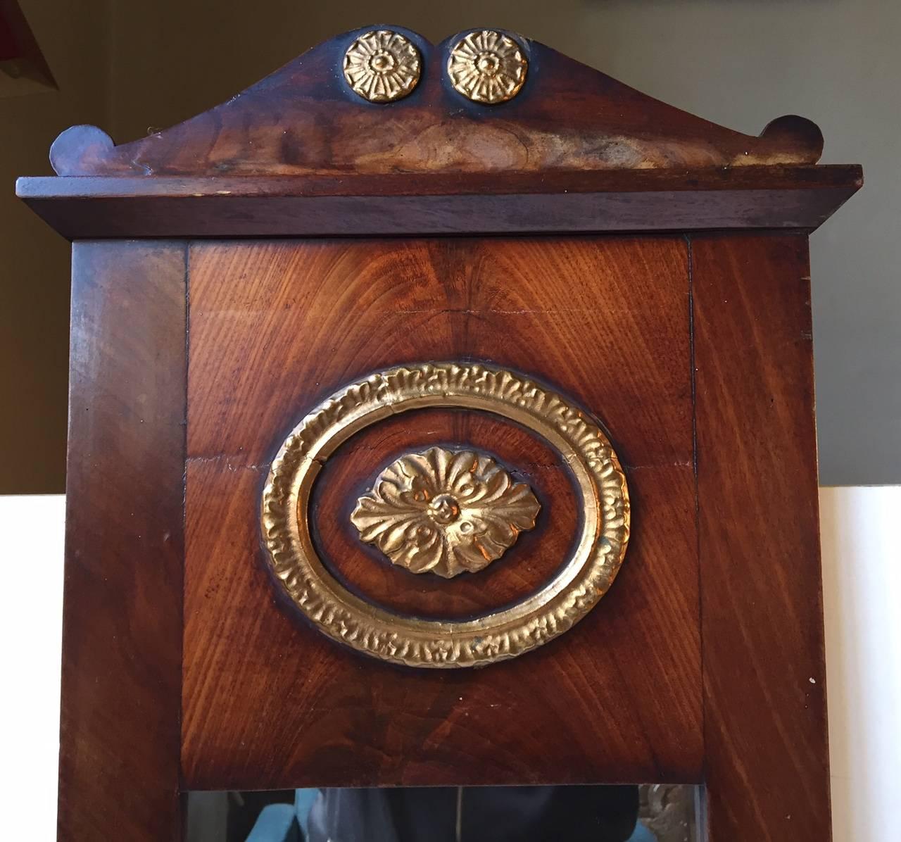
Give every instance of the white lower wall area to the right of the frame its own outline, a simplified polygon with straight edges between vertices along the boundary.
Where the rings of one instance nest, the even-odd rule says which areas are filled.
[[[901,487],[822,489],[834,842],[901,839]]]

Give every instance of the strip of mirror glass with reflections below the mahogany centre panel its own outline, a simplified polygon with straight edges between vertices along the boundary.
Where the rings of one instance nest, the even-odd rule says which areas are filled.
[[[697,787],[191,792],[186,842],[696,842]]]

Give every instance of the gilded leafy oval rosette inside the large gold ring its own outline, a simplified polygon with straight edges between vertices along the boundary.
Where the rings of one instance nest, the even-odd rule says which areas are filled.
[[[432,447],[382,471],[350,520],[392,563],[451,579],[500,558],[540,508],[490,456]]]

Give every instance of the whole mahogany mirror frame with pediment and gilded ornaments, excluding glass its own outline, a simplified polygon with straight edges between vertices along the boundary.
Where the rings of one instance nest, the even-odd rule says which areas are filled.
[[[681,784],[711,842],[828,839],[822,145],[397,26],[60,135],[18,185],[73,241],[59,838]]]

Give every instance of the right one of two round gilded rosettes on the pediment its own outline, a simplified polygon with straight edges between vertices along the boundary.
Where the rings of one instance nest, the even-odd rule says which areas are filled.
[[[470,32],[457,42],[448,59],[454,90],[473,102],[496,105],[516,96],[525,83],[529,62],[523,50],[503,32]]]

